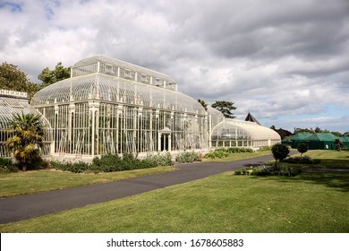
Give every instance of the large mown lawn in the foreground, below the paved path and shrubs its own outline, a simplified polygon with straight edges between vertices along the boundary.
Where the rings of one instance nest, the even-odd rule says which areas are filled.
[[[231,172],[0,225],[1,232],[347,233],[349,174]]]

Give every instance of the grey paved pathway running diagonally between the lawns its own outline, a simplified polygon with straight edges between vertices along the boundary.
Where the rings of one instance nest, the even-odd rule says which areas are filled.
[[[61,212],[93,203],[103,203],[158,188],[182,184],[217,173],[241,169],[274,160],[272,155],[231,162],[177,164],[179,170],[146,177],[135,177],[91,186],[21,195],[0,199],[0,224]]]

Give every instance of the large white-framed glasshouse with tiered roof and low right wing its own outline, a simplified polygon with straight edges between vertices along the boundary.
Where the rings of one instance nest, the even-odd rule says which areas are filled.
[[[225,119],[217,109],[203,108],[177,91],[177,83],[166,74],[108,56],[82,59],[72,66],[71,78],[38,91],[31,107],[24,103],[44,117],[56,158],[209,151],[281,141],[267,127]]]

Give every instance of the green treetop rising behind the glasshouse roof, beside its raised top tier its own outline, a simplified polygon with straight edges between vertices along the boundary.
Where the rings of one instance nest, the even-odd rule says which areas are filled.
[[[41,74],[38,74],[38,79],[42,81],[42,88],[48,85],[58,82],[71,76],[71,67],[64,67],[62,62],[58,62],[55,65],[54,70],[50,70],[48,67],[42,70]]]

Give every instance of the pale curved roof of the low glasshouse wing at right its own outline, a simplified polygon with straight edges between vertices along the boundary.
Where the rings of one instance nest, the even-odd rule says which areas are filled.
[[[251,140],[280,140],[281,137],[274,130],[258,125],[254,122],[248,122],[236,119],[226,119],[216,125],[212,130],[212,137],[217,139],[236,140],[243,136]]]

